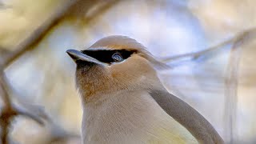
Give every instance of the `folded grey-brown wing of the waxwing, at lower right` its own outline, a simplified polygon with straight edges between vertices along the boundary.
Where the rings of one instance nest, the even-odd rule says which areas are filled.
[[[172,118],[186,127],[200,143],[224,143],[210,122],[186,102],[164,90],[151,90],[150,95]]]

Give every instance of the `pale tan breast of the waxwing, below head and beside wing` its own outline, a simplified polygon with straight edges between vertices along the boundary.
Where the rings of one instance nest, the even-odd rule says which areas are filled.
[[[101,98],[83,107],[84,143],[197,142],[146,91],[125,91]]]

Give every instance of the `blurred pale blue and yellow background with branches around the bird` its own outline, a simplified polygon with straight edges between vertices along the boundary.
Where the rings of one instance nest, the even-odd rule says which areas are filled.
[[[80,143],[82,107],[67,49],[118,34],[227,143],[256,142],[256,1],[0,0],[2,143]]]

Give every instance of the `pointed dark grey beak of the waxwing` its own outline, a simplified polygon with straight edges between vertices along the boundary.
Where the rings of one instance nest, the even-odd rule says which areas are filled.
[[[70,57],[74,60],[74,62],[81,60],[85,62],[93,62],[102,66],[107,65],[106,63],[100,62],[98,61],[98,59],[92,58],[89,55],[83,54],[81,51],[78,51],[78,50],[66,50],[66,53],[70,55]]]

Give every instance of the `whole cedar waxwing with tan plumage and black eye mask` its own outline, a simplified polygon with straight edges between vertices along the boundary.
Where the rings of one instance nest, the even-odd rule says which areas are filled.
[[[77,64],[83,143],[224,143],[210,122],[160,82],[158,62],[124,36],[67,50]]]

